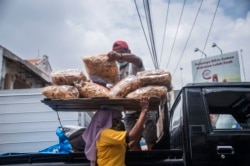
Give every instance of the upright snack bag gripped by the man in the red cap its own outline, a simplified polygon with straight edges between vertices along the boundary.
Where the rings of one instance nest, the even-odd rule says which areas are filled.
[[[116,84],[119,81],[118,66],[115,60],[108,60],[106,54],[83,57],[89,79],[105,85]]]

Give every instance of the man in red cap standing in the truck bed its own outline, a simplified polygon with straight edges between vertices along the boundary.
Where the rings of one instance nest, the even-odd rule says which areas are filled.
[[[108,53],[109,60],[116,60],[119,66],[120,80],[130,76],[136,75],[139,71],[144,71],[143,61],[140,57],[132,54],[128,44],[123,40],[115,41],[112,47],[112,51]],[[125,113],[125,128],[130,131],[135,125],[140,113],[138,111],[127,111]],[[156,112],[150,111],[147,113],[147,120],[145,129],[142,133],[143,138],[146,140],[147,149],[151,150],[157,140],[156,133]],[[140,138],[136,141],[136,144],[131,143],[130,150],[141,150],[139,144]]]

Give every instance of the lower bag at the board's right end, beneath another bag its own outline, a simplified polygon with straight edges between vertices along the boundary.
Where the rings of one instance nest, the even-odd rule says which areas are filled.
[[[130,92],[126,98],[140,99],[142,97],[159,97],[161,103],[165,103],[167,99],[167,88],[165,86],[149,85]]]

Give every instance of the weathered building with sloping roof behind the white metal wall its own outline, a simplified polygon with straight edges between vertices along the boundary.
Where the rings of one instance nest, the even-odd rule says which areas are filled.
[[[0,46],[0,89],[41,88],[51,85],[48,56],[23,60]]]

